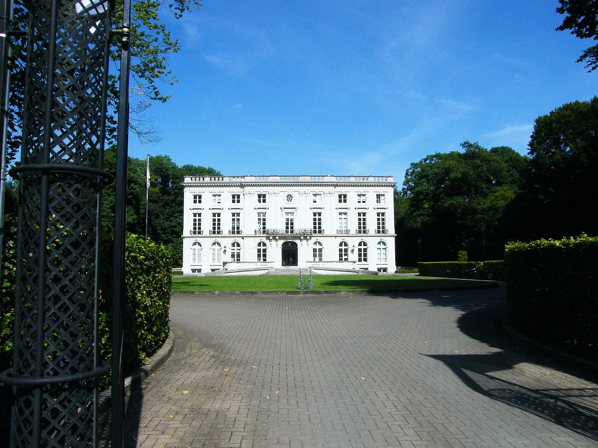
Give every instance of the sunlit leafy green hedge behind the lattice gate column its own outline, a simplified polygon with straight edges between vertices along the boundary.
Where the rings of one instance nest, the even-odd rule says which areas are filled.
[[[0,371],[8,369],[13,356],[14,320],[14,233],[5,234],[2,256],[2,297],[0,309]],[[130,371],[154,354],[169,333],[172,255],[170,248],[137,235],[127,235],[124,340],[125,371]],[[111,360],[112,322],[112,241],[102,244],[100,271],[100,351],[102,359]],[[104,378],[102,385],[108,383]]]

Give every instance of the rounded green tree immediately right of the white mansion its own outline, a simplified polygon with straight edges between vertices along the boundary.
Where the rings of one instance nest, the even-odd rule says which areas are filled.
[[[422,260],[456,260],[459,250],[481,259],[502,256],[500,221],[518,191],[527,159],[507,146],[463,142],[463,152],[428,155],[410,165],[401,191],[398,234],[422,240]],[[417,238],[415,238],[417,236]],[[417,259],[410,244],[401,264]]]

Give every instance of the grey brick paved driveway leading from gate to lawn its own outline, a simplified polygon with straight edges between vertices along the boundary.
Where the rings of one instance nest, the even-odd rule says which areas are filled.
[[[598,446],[598,385],[504,335],[504,289],[179,296],[142,447]],[[136,436],[136,441],[134,437]]]

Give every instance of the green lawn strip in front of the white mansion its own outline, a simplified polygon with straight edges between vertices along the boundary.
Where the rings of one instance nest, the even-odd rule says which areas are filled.
[[[303,277],[307,283],[307,276]],[[463,288],[495,282],[453,280],[451,278],[395,277],[390,275],[314,275],[313,289],[365,289],[401,291],[405,289]],[[296,275],[239,275],[234,277],[174,277],[174,291],[292,291],[298,290]]]

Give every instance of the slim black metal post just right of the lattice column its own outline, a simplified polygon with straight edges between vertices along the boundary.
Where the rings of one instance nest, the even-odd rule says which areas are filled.
[[[120,29],[120,91],[118,98],[118,137],[114,203],[114,302],[112,304],[112,448],[124,443],[124,304],[127,290],[124,255],[127,225],[127,159],[129,152],[129,39],[131,0],[123,3]]]

